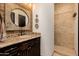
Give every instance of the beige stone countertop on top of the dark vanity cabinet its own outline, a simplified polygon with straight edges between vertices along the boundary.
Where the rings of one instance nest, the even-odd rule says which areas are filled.
[[[23,41],[31,40],[33,38],[40,37],[40,33],[32,33],[29,35],[23,35],[23,36],[17,36],[17,37],[12,37],[12,38],[6,38],[3,41],[0,41],[0,48],[10,46],[13,44],[17,44]]]

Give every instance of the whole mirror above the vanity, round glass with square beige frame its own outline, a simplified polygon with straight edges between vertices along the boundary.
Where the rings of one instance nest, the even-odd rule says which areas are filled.
[[[6,31],[32,31],[32,10],[25,5],[16,3],[5,4]]]

